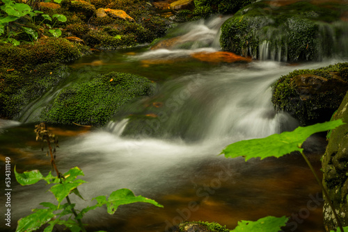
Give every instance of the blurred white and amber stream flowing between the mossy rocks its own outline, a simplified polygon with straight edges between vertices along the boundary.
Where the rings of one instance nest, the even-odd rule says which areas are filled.
[[[16,121],[0,120],[1,160],[10,157],[19,172],[40,169],[47,174],[49,158],[33,133],[38,110],[51,99],[47,95],[52,97],[72,82],[88,81],[100,73],[140,74],[157,82],[155,95],[129,102],[103,128],[49,127],[60,137],[58,168],[66,172],[78,166],[85,174],[82,179],[88,182],[79,187],[85,201],[72,197],[77,208],[119,188],[129,188],[164,205],[120,206],[115,215],[100,208],[86,215],[88,230],[171,231],[181,220],[219,222],[233,229],[241,219],[286,215],[290,224],[285,231],[324,231],[321,191],[301,156],[246,163],[243,158],[218,155],[232,142],[296,128],[295,119],[275,112],[271,85],[294,69],[342,60],[289,65],[269,60],[204,63],[191,58],[191,53],[219,50],[216,38],[223,20],[216,17],[184,24],[184,40],[196,41],[189,49],[139,47],[77,60],[70,65],[72,71],[64,83],[36,99]],[[155,116],[134,127],[137,125],[128,120],[132,114]],[[325,145],[320,136],[307,142],[308,156],[318,170]],[[14,174],[11,178],[12,227],[1,223],[1,231],[14,231],[17,219],[40,202],[54,202],[45,183],[20,186]],[[318,205],[308,208],[308,202]]]

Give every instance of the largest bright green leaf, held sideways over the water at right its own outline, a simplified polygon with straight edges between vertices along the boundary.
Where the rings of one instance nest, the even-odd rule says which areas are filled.
[[[312,126],[298,127],[294,131],[285,131],[281,134],[270,135],[267,138],[242,140],[228,145],[221,154],[226,158],[244,156],[250,158],[280,157],[292,151],[302,151],[302,143],[313,133],[335,129],[344,124],[341,119],[315,124]]]

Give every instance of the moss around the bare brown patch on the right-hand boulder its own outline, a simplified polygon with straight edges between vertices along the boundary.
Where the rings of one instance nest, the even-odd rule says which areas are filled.
[[[292,84],[292,78],[302,74],[313,74],[328,80],[342,78],[346,83],[348,63],[338,63],[319,69],[300,69],[281,76],[274,85],[272,102],[277,110],[285,110],[290,115],[299,119],[302,125],[313,124],[315,122],[328,121],[340,106],[345,92],[337,92],[333,88],[327,88],[323,92],[312,94],[308,99],[301,99]],[[320,87],[319,84],[317,87]],[[347,88],[348,90],[348,88]],[[347,92],[347,91],[346,91]]]

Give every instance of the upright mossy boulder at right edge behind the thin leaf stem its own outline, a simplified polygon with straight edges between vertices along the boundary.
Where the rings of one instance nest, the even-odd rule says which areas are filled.
[[[346,124],[329,133],[329,144],[322,159],[323,185],[329,192],[333,206],[343,226],[348,226],[348,94],[343,99],[333,119],[342,119]],[[326,231],[335,231],[337,221],[331,207],[324,201],[324,227]],[[340,231],[338,229],[338,231]]]

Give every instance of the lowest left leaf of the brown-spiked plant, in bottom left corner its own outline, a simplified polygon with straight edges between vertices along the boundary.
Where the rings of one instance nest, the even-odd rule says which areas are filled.
[[[31,232],[49,222],[53,217],[53,210],[49,208],[36,209],[34,213],[18,220],[16,231]]]

